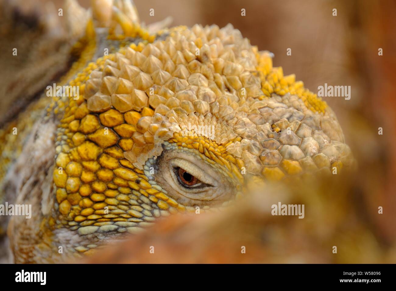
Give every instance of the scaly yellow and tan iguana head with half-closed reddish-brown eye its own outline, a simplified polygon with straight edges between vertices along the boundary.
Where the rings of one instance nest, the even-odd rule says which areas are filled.
[[[232,26],[150,35],[120,13],[123,35],[110,29],[98,38],[103,31],[89,21],[76,44],[80,59],[57,85],[79,86],[79,98],[42,97],[28,109],[52,98],[45,116],[20,133],[29,142],[7,167],[12,173],[2,174],[15,203],[33,209],[32,219],[8,223],[15,262],[80,257],[157,217],[226,207],[247,180],[352,164],[326,103]],[[109,55],[97,58],[110,40]],[[189,125],[214,133],[186,133]]]

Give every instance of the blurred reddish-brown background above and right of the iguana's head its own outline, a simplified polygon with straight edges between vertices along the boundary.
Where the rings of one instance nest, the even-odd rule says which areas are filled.
[[[41,2],[44,6],[48,1]],[[88,8],[90,0],[79,3]],[[58,9],[64,2],[53,4]],[[396,261],[391,250],[396,243],[395,1],[135,0],[135,5],[146,24],[168,16],[173,17],[172,25],[231,23],[259,50],[273,52],[274,66],[282,66],[285,75],[296,74],[296,80],[313,92],[324,83],[351,86],[350,100],[323,99],[336,112],[346,143],[358,160],[358,171],[343,181],[350,183],[346,202],[355,207],[354,214],[373,234],[376,247],[385,250],[377,257],[372,251],[373,257],[359,262]],[[149,15],[151,8],[154,16]],[[246,16],[241,16],[242,8]],[[337,16],[332,15],[334,8]],[[379,127],[383,135],[378,134]],[[379,206],[384,209],[382,215]]]

